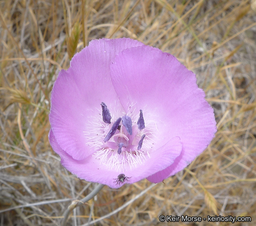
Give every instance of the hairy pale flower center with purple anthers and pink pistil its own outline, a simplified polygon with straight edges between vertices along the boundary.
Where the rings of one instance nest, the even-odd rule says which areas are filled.
[[[132,110],[126,115],[115,112],[112,117],[107,105],[103,102],[100,105],[101,118],[93,117],[89,122],[88,131],[84,132],[88,140],[86,144],[95,150],[92,156],[109,169],[114,168],[122,172],[126,166],[132,169],[150,158],[150,151],[154,146],[155,123],[149,122],[145,126],[142,110],[139,113],[138,110],[132,109],[132,105],[129,107]]]

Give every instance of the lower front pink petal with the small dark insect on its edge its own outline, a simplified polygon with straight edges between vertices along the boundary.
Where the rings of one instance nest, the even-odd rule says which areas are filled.
[[[57,154],[61,157],[61,164],[72,174],[76,174],[79,178],[91,182],[106,184],[111,188],[119,188],[124,183],[134,183],[143,178],[148,177],[152,172],[158,172],[161,169],[171,165],[174,160],[180,155],[182,144],[180,138],[175,137],[166,143],[161,150],[154,151],[150,158],[145,160],[143,164],[138,165],[133,169],[127,168],[124,171],[116,172],[115,169],[108,169],[104,164],[100,164],[99,160],[89,156],[83,160],[73,159],[60,145],[57,143],[52,130],[49,132],[49,141]],[[125,174],[128,180],[116,184],[116,178],[119,174]]]

